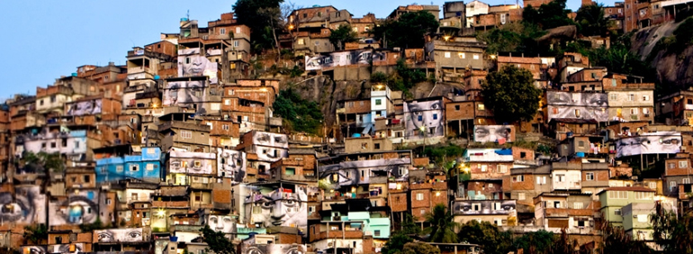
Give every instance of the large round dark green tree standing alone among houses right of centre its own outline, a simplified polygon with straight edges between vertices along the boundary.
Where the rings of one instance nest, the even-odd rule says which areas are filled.
[[[491,72],[482,83],[484,104],[498,122],[530,121],[539,109],[542,91],[529,70],[507,65]]]

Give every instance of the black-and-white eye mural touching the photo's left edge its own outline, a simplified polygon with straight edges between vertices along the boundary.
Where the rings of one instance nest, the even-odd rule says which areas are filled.
[[[16,186],[14,193],[0,193],[0,220],[17,224],[46,222],[46,195],[40,186]]]

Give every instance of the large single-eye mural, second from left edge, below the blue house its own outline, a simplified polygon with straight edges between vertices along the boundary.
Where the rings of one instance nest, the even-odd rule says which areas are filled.
[[[81,190],[49,202],[49,225],[94,223],[99,214],[99,193]]]

